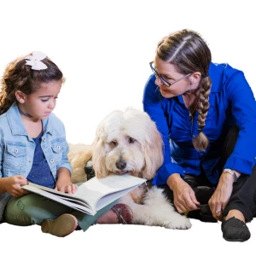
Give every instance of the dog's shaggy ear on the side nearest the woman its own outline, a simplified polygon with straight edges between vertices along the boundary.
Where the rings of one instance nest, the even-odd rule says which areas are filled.
[[[151,179],[163,164],[163,141],[156,125],[152,122],[148,125],[148,137],[144,145],[145,166],[143,177]]]

